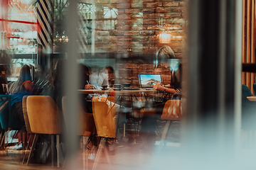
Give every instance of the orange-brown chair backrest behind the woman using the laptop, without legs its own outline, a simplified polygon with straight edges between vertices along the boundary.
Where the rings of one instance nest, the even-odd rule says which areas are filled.
[[[181,100],[169,100],[164,104],[162,120],[181,120]]]

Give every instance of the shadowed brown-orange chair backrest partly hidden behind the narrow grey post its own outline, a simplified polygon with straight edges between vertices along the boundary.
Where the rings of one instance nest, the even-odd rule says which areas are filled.
[[[65,124],[67,123],[67,108],[66,108],[67,96],[62,98],[62,107]],[[92,113],[86,113],[80,103],[78,103],[78,135],[90,135],[95,132],[95,123]]]

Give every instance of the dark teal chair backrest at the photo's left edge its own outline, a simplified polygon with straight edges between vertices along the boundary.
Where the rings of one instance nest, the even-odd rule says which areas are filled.
[[[11,96],[0,95],[0,123],[3,130],[9,128],[9,111],[11,111]]]

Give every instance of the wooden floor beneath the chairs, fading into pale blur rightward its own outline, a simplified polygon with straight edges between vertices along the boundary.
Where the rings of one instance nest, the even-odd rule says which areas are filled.
[[[161,152],[159,152],[158,149],[159,146],[155,145],[154,149],[151,152],[148,152],[147,150],[142,149],[142,143],[138,144],[135,142],[129,145],[117,145],[114,155],[112,155],[111,152],[108,152],[110,156],[110,164],[107,162],[105,153],[102,152],[96,169],[156,169],[156,167],[158,169],[159,166],[168,167],[166,162],[168,164],[171,162],[174,162],[175,164],[178,163],[179,147],[177,144],[169,147],[167,146],[165,149],[161,149]],[[84,169],[83,157],[85,156],[87,158],[89,152],[89,149],[87,149],[86,152],[80,150],[78,154],[73,157],[73,162],[70,161],[72,164],[65,163],[63,169]],[[22,159],[22,151],[16,151],[11,147],[8,149],[8,152],[1,151],[0,169],[58,169],[56,164],[55,167],[51,167],[50,160],[47,164],[36,164],[31,162],[31,164],[26,166],[26,164],[21,164]],[[87,166],[85,167],[87,167],[87,169],[92,169],[94,162],[89,159],[87,159],[86,162]]]

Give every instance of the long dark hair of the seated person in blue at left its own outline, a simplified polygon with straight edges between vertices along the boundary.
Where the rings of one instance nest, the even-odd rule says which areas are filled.
[[[29,66],[25,64],[23,65],[23,67],[21,67],[21,72],[18,76],[18,80],[15,81],[15,83],[13,84],[10,93],[16,94],[19,91],[25,90],[25,88],[23,87],[23,82],[27,80],[31,80],[31,72]]]

